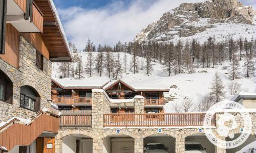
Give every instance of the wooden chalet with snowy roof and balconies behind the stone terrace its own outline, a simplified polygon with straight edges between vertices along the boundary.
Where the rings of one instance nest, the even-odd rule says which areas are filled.
[[[59,81],[59,82],[58,82]],[[122,80],[101,81],[97,83],[83,82],[83,80],[72,80],[73,84],[63,86],[69,80],[52,79],[52,103],[57,104],[59,110],[70,111],[80,110],[91,112],[92,110],[92,89],[103,89],[110,99],[133,99],[137,95],[145,97],[144,113],[164,113],[165,105],[164,92],[169,89],[134,88]],[[61,83],[60,83],[61,82]],[[75,86],[74,82],[79,82]],[[88,84],[87,84],[88,83]],[[90,85],[89,85],[90,84]],[[113,105],[111,113],[134,113],[134,104],[130,106]]]

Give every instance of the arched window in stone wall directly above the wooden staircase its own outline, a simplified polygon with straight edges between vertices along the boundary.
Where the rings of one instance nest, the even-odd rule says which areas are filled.
[[[38,112],[40,110],[40,96],[30,86],[20,87],[20,107]]]

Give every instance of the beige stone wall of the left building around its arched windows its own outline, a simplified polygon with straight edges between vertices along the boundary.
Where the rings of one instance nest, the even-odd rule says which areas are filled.
[[[22,36],[19,41],[19,69],[0,59],[0,69],[13,83],[13,101],[0,101],[0,122],[11,117],[28,118],[35,112],[20,108],[20,87],[31,86],[40,95],[40,108],[50,108],[51,104],[51,62],[44,58],[44,71],[35,65],[36,49]]]

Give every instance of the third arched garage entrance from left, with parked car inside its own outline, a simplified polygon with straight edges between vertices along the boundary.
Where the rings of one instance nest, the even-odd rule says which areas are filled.
[[[144,149],[175,152],[175,138],[165,134],[154,134],[144,138]]]

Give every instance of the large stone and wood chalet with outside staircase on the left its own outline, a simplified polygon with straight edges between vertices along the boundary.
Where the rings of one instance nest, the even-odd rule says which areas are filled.
[[[71,62],[52,0],[0,1],[0,152],[55,152],[51,62]]]

